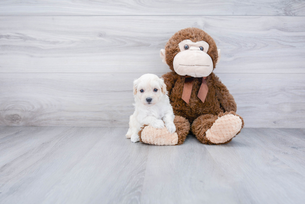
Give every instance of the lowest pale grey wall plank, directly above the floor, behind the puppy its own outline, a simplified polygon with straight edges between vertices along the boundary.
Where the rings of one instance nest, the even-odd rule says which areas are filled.
[[[127,127],[140,75],[1,74],[0,125]],[[246,127],[305,127],[305,74],[217,75]]]

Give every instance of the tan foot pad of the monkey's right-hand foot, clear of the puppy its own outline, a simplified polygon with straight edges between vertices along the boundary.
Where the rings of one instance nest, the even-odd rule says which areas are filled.
[[[242,129],[242,120],[233,114],[218,118],[212,127],[205,132],[206,139],[215,144],[231,140]]]

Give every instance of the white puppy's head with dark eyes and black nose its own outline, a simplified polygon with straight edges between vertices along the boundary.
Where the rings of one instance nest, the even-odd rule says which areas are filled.
[[[166,85],[155,74],[144,74],[134,80],[134,95],[147,106],[153,106],[166,94]]]

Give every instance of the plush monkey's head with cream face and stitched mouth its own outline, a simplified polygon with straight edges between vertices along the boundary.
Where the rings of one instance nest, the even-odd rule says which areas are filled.
[[[211,36],[199,28],[176,32],[160,51],[162,62],[177,74],[207,77],[220,59],[220,49]]]

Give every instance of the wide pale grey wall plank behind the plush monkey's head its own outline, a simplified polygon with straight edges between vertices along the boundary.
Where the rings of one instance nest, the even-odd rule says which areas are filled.
[[[305,17],[0,17],[0,73],[164,73],[159,52],[186,27],[211,35],[215,73],[305,73]]]

